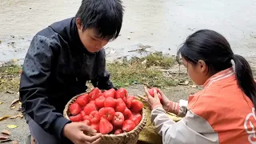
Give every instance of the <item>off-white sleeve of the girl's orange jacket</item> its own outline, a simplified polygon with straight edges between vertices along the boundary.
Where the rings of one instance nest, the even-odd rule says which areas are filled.
[[[207,143],[218,144],[218,134],[202,117],[188,110],[186,117],[174,122],[161,106],[156,106],[151,112],[151,121],[164,144]]]

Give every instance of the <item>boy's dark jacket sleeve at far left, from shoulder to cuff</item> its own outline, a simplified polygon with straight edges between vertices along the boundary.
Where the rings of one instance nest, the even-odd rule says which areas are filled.
[[[62,138],[62,129],[70,121],[50,106],[47,91],[53,46],[58,43],[44,36],[34,36],[23,64],[19,94],[22,110],[43,130]]]

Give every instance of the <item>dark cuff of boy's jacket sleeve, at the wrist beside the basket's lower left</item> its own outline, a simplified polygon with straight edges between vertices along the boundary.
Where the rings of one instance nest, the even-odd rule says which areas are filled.
[[[56,120],[54,120],[54,122],[51,124],[54,135],[57,136],[59,139],[63,139],[64,135],[62,134],[62,130],[64,126],[70,122],[70,120],[63,117],[56,118]]]

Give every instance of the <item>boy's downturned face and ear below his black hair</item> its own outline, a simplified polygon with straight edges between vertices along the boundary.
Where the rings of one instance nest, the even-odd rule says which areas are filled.
[[[86,50],[88,50],[89,52],[97,52],[108,43],[108,41],[102,38],[98,38],[93,28],[82,30],[82,22],[80,18],[77,18],[76,25],[78,27],[79,38],[83,46],[85,46]]]

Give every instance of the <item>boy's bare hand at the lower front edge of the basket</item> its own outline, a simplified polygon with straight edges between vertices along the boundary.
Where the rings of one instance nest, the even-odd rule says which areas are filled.
[[[84,132],[93,136],[86,135]],[[102,134],[96,134],[96,132],[92,127],[86,126],[82,122],[71,122],[63,128],[64,136],[69,138],[74,144],[98,144],[102,139]]]

